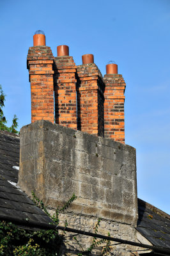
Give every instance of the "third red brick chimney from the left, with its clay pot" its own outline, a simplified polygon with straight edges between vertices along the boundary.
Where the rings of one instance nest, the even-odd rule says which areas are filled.
[[[82,56],[77,66],[77,122],[83,132],[104,137],[104,88],[93,54]]]

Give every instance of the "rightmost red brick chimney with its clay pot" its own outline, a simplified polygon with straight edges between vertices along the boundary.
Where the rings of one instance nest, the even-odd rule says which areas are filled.
[[[118,65],[106,65],[105,102],[104,102],[104,137],[125,143],[125,81],[118,74]]]

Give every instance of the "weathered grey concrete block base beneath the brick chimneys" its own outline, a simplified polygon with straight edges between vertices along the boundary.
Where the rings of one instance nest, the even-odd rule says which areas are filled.
[[[20,130],[19,186],[50,207],[136,225],[135,148],[48,121]]]

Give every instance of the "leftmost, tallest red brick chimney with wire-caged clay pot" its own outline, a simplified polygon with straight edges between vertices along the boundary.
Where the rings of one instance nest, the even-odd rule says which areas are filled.
[[[31,82],[31,122],[42,119],[54,122],[54,57],[50,47],[45,46],[43,31],[36,31],[33,41],[34,46],[29,47],[27,54]]]

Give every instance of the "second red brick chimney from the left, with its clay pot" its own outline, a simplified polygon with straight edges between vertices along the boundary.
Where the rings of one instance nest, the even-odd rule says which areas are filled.
[[[58,46],[54,65],[56,124],[77,129],[76,65],[67,45]]]

